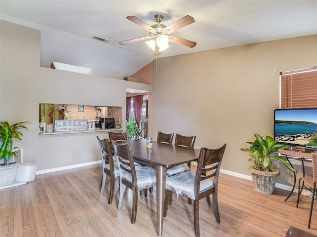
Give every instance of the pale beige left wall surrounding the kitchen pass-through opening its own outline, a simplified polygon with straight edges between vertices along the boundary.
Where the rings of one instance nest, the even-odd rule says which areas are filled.
[[[100,161],[96,135],[107,132],[40,136],[39,104],[102,104],[125,111],[127,88],[152,85],[40,67],[40,46],[39,31],[0,21],[0,121],[32,122],[13,145],[23,148],[23,161],[37,163],[38,171]]]

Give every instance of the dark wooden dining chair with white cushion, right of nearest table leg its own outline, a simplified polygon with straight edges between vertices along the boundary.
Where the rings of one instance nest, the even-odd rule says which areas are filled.
[[[220,165],[227,144],[217,149],[201,148],[196,172],[184,172],[166,178],[166,196],[172,192],[184,195],[194,200],[194,225],[196,237],[200,237],[199,230],[199,200],[206,197],[211,206],[212,194],[213,211],[217,223],[220,223],[218,211],[218,178]],[[213,180],[211,180],[213,177]],[[165,198],[164,216],[167,214],[168,198]]]

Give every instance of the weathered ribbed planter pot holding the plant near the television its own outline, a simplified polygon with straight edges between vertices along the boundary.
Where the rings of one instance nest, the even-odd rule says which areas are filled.
[[[252,173],[254,189],[262,194],[272,194],[275,188],[276,176],[279,175],[279,171],[265,172],[251,167],[249,170]]]

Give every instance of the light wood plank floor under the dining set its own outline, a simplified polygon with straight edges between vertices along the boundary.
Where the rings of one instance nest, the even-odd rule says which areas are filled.
[[[91,165],[37,175],[33,182],[0,190],[0,237],[156,237],[156,190],[139,198],[132,225],[131,191],[126,189],[117,211],[117,187],[111,205],[108,182],[100,195],[101,172],[101,164]],[[260,194],[251,181],[222,173],[218,189],[221,223],[216,223],[212,205],[202,199],[202,237],[284,237],[289,226],[317,235],[316,201],[311,229],[307,228],[310,197],[302,195],[296,208],[297,194],[285,202],[287,191]],[[193,205],[186,198],[173,195],[162,236],[195,237]]]

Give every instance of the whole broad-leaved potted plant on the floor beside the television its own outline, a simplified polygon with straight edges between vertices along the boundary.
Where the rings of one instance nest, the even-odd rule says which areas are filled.
[[[263,194],[272,194],[275,188],[275,179],[279,175],[279,171],[272,166],[272,160],[282,162],[289,170],[296,172],[287,162],[285,157],[278,155],[279,149],[286,148],[286,145],[277,144],[278,141],[266,136],[265,139],[259,134],[254,134],[256,140],[247,142],[251,146],[249,148],[241,148],[241,151],[249,152],[252,155],[250,160],[254,164],[249,167],[252,173],[254,189]]]

